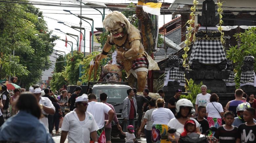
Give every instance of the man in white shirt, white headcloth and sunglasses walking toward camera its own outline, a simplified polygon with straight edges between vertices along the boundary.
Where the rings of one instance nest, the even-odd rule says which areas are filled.
[[[90,135],[94,143],[98,143],[96,131],[99,128],[93,115],[87,111],[88,96],[83,94],[77,97],[75,106],[73,111],[65,115],[61,126],[60,143],[65,142],[67,135],[69,143],[89,143]]]

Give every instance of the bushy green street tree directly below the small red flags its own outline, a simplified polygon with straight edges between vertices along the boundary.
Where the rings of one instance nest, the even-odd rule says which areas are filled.
[[[66,71],[64,77],[67,79],[70,85],[76,85],[79,80],[79,66],[83,60],[83,53],[80,51],[74,51],[73,56],[71,53],[66,55]]]

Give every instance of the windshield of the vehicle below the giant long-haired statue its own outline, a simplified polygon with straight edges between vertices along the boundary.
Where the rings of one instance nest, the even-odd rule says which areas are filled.
[[[116,113],[122,113],[123,109],[123,100],[128,96],[127,95],[127,89],[129,88],[110,88],[110,87],[104,87],[104,88],[95,88],[93,89],[93,93],[96,94],[98,102],[100,102],[100,93],[105,92],[108,95],[107,103],[110,103],[114,106]]]

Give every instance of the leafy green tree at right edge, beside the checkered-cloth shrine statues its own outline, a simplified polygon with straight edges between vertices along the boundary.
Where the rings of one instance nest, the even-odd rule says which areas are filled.
[[[241,66],[245,56],[256,56],[256,27],[249,27],[245,30],[245,33],[235,34],[238,40],[241,40],[240,48],[238,46],[231,46],[229,50],[226,50],[226,57],[235,63],[235,82],[236,87],[239,87],[241,77]],[[254,63],[254,72],[256,71],[256,63]]]

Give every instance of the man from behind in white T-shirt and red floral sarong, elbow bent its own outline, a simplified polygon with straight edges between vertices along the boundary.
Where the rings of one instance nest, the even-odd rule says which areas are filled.
[[[97,102],[97,97],[93,93],[88,95],[88,101],[89,105],[87,107],[87,111],[93,115],[99,127],[99,130],[97,131],[98,142],[106,143],[106,138],[104,137],[105,113],[108,114],[108,121],[105,125],[107,126],[114,119],[115,112],[108,105]]]

